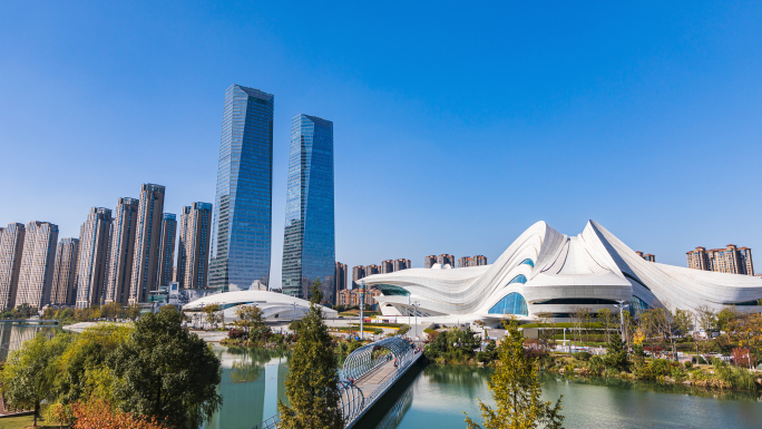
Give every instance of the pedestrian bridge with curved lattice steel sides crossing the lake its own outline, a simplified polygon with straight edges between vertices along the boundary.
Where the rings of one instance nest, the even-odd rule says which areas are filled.
[[[372,342],[346,357],[339,381],[344,428],[352,428],[420,357],[401,337]],[[276,415],[252,429],[275,429],[280,421]]]

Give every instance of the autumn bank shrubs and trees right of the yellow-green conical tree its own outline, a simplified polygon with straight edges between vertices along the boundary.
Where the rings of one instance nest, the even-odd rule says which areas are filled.
[[[578,315],[575,319],[585,320]],[[692,315],[681,310],[657,309],[642,311],[635,318],[625,311],[623,320],[615,322],[621,323],[624,339],[615,329],[606,329],[610,322],[600,323],[608,341],[603,348],[590,351],[603,354],[594,355],[588,351],[573,355],[551,354],[547,370],[683,383],[704,389],[762,390],[762,376],[755,371],[762,344],[760,313],[743,313],[732,308],[713,312],[702,308]],[[555,347],[558,329],[566,328],[550,322],[535,325],[539,329],[537,343],[540,349],[546,352],[558,350]],[[576,339],[578,345],[600,345],[598,341],[603,334],[595,332],[598,326],[573,325],[575,329],[569,337]]]

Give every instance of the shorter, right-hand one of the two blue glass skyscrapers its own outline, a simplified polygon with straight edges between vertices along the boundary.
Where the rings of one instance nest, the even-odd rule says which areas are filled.
[[[309,298],[320,279],[323,301],[335,303],[333,123],[299,115],[291,123],[283,293]]]

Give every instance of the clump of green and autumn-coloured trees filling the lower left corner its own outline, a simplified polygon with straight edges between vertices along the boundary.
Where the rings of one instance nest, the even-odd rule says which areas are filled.
[[[221,362],[182,321],[169,308],[134,326],[38,334],[0,372],[6,404],[78,429],[197,428],[222,404]]]

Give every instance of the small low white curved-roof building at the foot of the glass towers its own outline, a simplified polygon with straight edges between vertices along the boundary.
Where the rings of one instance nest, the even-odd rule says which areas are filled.
[[[214,304],[222,305],[227,321],[237,319],[235,311],[240,305],[255,304],[262,310],[267,321],[302,319],[310,310],[310,301],[270,291],[248,290],[206,295],[183,305],[183,311],[201,311],[204,306]],[[335,319],[339,315],[335,310],[324,306],[322,310],[323,315],[329,319]]]

